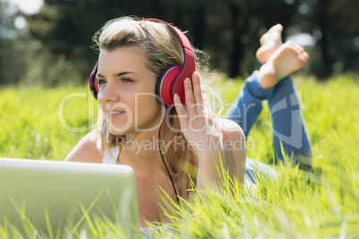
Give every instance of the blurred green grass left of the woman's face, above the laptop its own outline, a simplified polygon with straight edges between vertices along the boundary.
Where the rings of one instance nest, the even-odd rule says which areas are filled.
[[[87,88],[12,87],[0,94],[1,157],[63,161],[95,122]]]

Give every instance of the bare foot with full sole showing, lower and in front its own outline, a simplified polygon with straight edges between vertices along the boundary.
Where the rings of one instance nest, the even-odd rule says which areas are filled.
[[[271,55],[259,70],[259,84],[263,88],[274,87],[280,79],[299,70],[309,60],[303,47],[288,41]]]

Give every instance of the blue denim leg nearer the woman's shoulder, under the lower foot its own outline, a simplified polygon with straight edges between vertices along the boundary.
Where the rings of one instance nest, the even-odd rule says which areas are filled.
[[[249,78],[246,78],[238,98],[231,104],[230,109],[224,116],[224,118],[238,123],[246,136],[248,136],[255,119],[263,109],[263,100],[271,97],[273,92],[273,87],[265,89],[259,85],[257,74],[258,71],[256,70]]]

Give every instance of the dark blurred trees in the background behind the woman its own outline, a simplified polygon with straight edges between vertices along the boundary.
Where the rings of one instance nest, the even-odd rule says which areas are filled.
[[[43,50],[72,62],[84,81],[97,58],[90,49],[92,36],[105,21],[121,16],[158,18],[187,30],[193,45],[211,55],[211,69],[230,78],[260,66],[255,60],[259,38],[280,22],[283,38],[288,32],[317,38],[308,49],[311,70],[327,78],[357,70],[357,12],[357,0],[45,0],[38,14],[26,17]]]

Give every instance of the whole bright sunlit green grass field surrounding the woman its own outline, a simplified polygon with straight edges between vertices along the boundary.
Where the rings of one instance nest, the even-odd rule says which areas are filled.
[[[168,225],[172,230],[154,229],[156,237],[359,237],[359,78],[341,75],[325,83],[294,78],[313,143],[313,173],[272,165],[270,117],[264,107],[248,136],[253,144],[247,156],[277,169],[278,180],[259,177],[255,192],[237,185],[234,195],[224,183],[221,193],[184,203]],[[242,80],[212,83],[225,102],[232,102]],[[53,161],[63,161],[91,130],[97,111],[88,87],[3,87],[0,109],[0,157]],[[87,237],[116,237],[108,224],[90,226]],[[0,238],[13,238],[10,232],[0,226]]]

